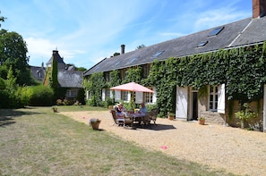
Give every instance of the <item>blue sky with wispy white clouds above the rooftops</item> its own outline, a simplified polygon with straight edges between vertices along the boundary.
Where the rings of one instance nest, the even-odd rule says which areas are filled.
[[[252,0],[1,0],[2,29],[26,41],[30,65],[57,48],[90,69],[105,57],[252,17]]]

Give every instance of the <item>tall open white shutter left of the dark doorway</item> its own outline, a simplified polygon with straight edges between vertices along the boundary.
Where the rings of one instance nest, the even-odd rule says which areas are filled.
[[[176,87],[176,118],[187,119],[188,88]]]

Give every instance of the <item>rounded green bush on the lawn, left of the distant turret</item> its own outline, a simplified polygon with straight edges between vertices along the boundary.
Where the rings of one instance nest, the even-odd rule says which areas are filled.
[[[29,105],[52,105],[54,91],[46,86],[32,87],[33,94]]]

